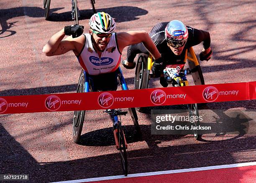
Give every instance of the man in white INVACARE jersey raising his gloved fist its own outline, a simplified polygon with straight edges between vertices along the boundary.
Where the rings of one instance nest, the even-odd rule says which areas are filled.
[[[104,12],[92,15],[89,25],[89,33],[85,34],[82,34],[84,26],[65,26],[49,39],[43,53],[55,56],[72,50],[82,69],[89,74],[93,91],[117,89],[117,71],[126,46],[142,42],[156,61],[161,62],[161,54],[146,31],[116,33],[115,20]],[[69,37],[63,40],[65,35]]]

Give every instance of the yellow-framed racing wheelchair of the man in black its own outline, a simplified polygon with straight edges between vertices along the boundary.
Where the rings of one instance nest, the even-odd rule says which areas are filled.
[[[184,65],[188,64],[189,68],[184,71]],[[183,60],[184,64],[167,65],[163,70],[163,74],[166,79],[167,84],[172,84],[172,86],[188,86],[187,74],[191,74],[195,85],[205,84],[204,77],[202,75],[202,70],[198,62],[197,56],[192,47],[188,48],[185,52],[185,57]],[[134,88],[135,89],[147,89],[148,82],[150,78],[155,78],[154,74],[150,74],[151,68],[154,64],[153,57],[151,54],[140,53],[138,55],[138,60],[136,64],[136,71],[134,77]],[[173,67],[174,66],[174,67]],[[198,116],[199,112],[197,109],[197,104],[186,104],[185,108],[189,113],[189,117]],[[136,107],[138,112],[143,112],[145,107]],[[199,120],[192,122],[196,127],[199,126]],[[194,130],[195,139],[199,140],[202,135],[200,135],[199,130]]]

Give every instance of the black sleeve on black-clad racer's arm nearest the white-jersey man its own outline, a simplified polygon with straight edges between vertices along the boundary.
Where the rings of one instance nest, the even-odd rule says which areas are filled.
[[[146,47],[143,45],[143,43],[138,43],[138,44],[133,44],[131,46],[128,47],[127,49],[127,61],[129,63],[133,63],[134,58],[136,57],[136,55],[138,53],[145,53],[148,54],[148,50],[146,49]]]

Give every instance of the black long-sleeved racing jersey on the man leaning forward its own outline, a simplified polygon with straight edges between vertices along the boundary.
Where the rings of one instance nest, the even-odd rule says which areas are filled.
[[[204,30],[195,29],[187,26],[188,30],[188,40],[184,46],[182,53],[179,56],[176,56],[172,50],[167,45],[164,29],[169,22],[162,22],[156,24],[149,33],[149,36],[152,38],[152,41],[155,43],[156,48],[161,53],[161,57],[164,61],[169,64],[177,64],[179,61],[184,60],[185,51],[187,48],[198,45],[202,42],[203,47],[205,49],[210,47],[210,33]],[[133,63],[136,54],[138,53],[146,53],[148,54],[148,50],[143,45],[143,43],[134,44],[128,47],[127,50],[127,61]]]

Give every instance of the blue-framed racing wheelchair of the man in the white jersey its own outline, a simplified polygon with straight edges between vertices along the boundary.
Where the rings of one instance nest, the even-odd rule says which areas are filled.
[[[120,85],[122,90],[128,90],[128,86],[125,82],[123,77],[123,73],[120,67],[117,70],[117,76],[120,81]],[[90,92],[94,91],[92,79],[90,79],[90,75],[87,74],[84,70],[81,71],[79,76],[78,86],[77,86],[77,93],[82,92]],[[133,124],[136,128],[136,132],[138,136],[141,136],[140,126],[138,124],[138,116],[136,113],[135,108],[129,108],[129,113],[133,120]],[[109,114],[111,121],[113,122],[113,134],[115,139],[116,148],[119,150],[120,158],[121,158],[121,165],[126,176],[128,174],[128,166],[127,166],[127,154],[126,149],[128,147],[127,142],[125,140],[125,133],[123,132],[122,124],[121,124],[121,115],[126,115],[128,112],[122,111],[121,109],[107,109],[104,111],[105,113]],[[82,127],[84,123],[84,116],[85,111],[74,111],[74,118],[73,118],[73,140],[75,143],[79,143]],[[118,118],[119,116],[119,118]]]

